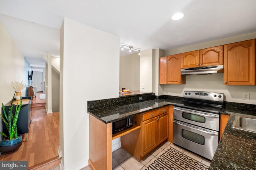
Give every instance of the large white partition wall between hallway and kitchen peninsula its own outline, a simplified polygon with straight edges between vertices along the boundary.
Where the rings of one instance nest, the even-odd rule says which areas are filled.
[[[119,96],[120,42],[67,18],[60,32],[60,150],[62,166],[73,170],[88,164],[86,101]]]

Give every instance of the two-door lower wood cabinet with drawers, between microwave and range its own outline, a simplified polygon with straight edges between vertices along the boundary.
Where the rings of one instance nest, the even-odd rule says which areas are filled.
[[[167,140],[170,134],[169,108],[173,106],[161,107],[134,116],[134,124],[141,128],[121,137],[122,148],[141,161],[154,148]]]

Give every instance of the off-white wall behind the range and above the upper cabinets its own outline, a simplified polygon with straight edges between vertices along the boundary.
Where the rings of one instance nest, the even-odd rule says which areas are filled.
[[[173,55],[197,49],[214,47],[227,43],[240,42],[256,38],[256,32],[241,36],[224,38],[212,42],[200,43],[165,51]],[[256,104],[256,86],[223,85],[223,73],[213,75],[186,75],[186,85],[163,85],[165,95],[183,96],[185,90],[212,91],[224,93],[225,101]],[[171,91],[172,88],[172,91]],[[242,93],[250,93],[250,100],[242,100]]]

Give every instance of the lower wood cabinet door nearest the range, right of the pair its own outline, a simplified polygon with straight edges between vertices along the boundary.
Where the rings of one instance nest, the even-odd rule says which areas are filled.
[[[158,116],[158,144],[162,143],[168,138],[168,113]]]

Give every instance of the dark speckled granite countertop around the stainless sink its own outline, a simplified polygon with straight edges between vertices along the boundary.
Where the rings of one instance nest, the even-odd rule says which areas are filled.
[[[224,112],[230,112],[225,111]],[[249,111],[248,111],[249,112]],[[230,118],[212,159],[210,170],[255,170],[256,133],[232,128],[237,113]],[[240,114],[240,113],[238,113]],[[245,117],[254,117],[244,115]]]

